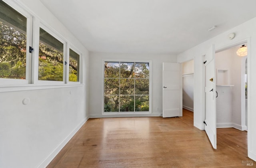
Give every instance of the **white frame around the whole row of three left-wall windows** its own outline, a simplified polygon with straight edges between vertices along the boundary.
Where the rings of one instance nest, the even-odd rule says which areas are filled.
[[[83,58],[75,45],[72,45],[64,36],[58,33],[54,28],[41,20],[36,14],[31,12],[29,8],[24,6],[22,2],[16,0],[3,0],[6,4],[14,8],[20,14],[27,18],[27,51],[31,46],[34,51],[26,53],[26,79],[3,79],[0,78],[0,93],[9,91],[25,91],[38,89],[53,89],[66,87],[82,87],[83,84]],[[29,25],[29,26],[28,26]],[[54,38],[63,43],[63,61],[69,62],[69,47],[80,55],[79,82],[69,82],[67,78],[68,65],[63,66],[63,81],[42,81],[38,80],[38,55],[39,55],[39,30],[44,29]],[[33,35],[33,36],[32,36]]]

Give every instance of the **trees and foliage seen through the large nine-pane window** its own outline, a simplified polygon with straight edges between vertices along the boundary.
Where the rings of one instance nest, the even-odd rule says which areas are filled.
[[[149,63],[104,62],[104,112],[149,111]]]

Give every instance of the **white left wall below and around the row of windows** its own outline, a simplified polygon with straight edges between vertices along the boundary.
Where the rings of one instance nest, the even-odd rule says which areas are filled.
[[[45,167],[88,119],[89,56],[40,0],[18,2],[82,53],[83,85],[0,93],[0,167]],[[28,105],[22,104],[24,98],[30,99]]]

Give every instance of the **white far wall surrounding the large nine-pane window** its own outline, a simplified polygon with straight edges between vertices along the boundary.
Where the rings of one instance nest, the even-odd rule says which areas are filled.
[[[151,60],[152,73],[152,113],[151,114],[118,114],[102,115],[103,97],[103,59],[130,59],[131,61],[146,59]],[[90,53],[90,117],[130,117],[130,116],[159,116],[162,113],[162,63],[176,62],[174,55],[157,54],[125,54],[125,53]]]

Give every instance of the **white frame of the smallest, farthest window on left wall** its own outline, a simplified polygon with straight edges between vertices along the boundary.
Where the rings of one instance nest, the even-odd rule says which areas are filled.
[[[78,55],[79,55],[79,81],[77,82],[72,82],[72,81],[69,81],[69,49],[72,49],[73,51],[75,51]],[[67,43],[67,67],[66,67],[66,83],[68,84],[78,84],[78,83],[82,83],[82,75],[81,75],[81,67],[82,67],[82,54],[81,52],[76,48],[74,47],[74,45],[70,44],[70,43]]]

